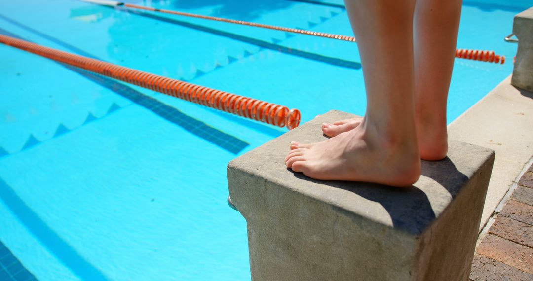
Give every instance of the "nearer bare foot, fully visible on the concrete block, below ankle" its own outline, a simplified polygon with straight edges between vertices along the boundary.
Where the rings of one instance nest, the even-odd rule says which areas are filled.
[[[368,125],[367,125],[368,126]],[[291,150],[288,168],[320,180],[367,181],[392,186],[414,184],[421,173],[416,139],[378,136],[363,126],[324,142]]]

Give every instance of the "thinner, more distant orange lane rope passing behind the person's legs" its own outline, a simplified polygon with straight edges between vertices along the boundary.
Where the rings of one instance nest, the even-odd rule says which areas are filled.
[[[319,37],[325,37],[325,38],[330,38],[330,39],[343,40],[343,41],[348,41],[348,42],[357,42],[356,38],[355,37],[351,37],[351,36],[329,34],[329,33],[324,33],[324,32],[316,32],[316,31],[297,29],[297,28],[271,26],[270,24],[262,24],[262,23],[255,23],[255,22],[249,22],[249,21],[240,21],[240,20],[217,18],[216,16],[191,14],[191,13],[184,13],[184,12],[178,12],[178,11],[172,11],[172,10],[164,10],[164,9],[155,9],[155,8],[152,8],[152,7],[135,5],[135,4],[128,4],[128,3],[118,2],[118,1],[109,1],[109,0],[82,0],[82,1],[83,2],[88,2],[88,3],[93,3],[93,4],[111,6],[111,7],[123,6],[123,7],[128,7],[128,8],[131,8],[131,9],[139,9],[139,10],[146,10],[146,11],[151,11],[151,12],[165,13],[165,14],[175,14],[175,15],[189,16],[191,18],[198,18],[198,19],[206,19],[206,20],[215,20],[215,21],[236,23],[236,24],[244,24],[246,26],[268,28],[268,29],[274,29],[274,30],[280,30],[280,31],[286,31],[286,32],[293,32],[293,33],[298,33],[298,34],[306,34],[306,35],[319,36]],[[505,56],[495,55],[494,52],[492,52],[492,51],[456,49],[455,57],[457,57],[459,59],[484,61],[484,62],[494,62],[494,63],[502,63],[502,64],[505,62]]]

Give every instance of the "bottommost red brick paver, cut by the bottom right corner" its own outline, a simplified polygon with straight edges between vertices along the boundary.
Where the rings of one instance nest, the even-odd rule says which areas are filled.
[[[474,281],[531,281],[533,280],[533,274],[477,254],[474,255],[474,261],[472,262],[470,279]]]

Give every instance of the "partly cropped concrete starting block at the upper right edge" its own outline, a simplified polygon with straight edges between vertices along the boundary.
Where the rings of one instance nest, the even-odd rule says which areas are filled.
[[[518,50],[511,84],[533,92],[533,7],[514,17],[513,33]]]

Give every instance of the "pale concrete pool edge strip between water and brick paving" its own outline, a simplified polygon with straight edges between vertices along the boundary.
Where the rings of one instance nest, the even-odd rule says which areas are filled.
[[[533,93],[511,85],[511,75],[448,125],[450,139],[496,152],[481,230],[533,155]]]

